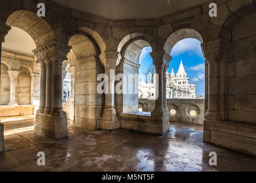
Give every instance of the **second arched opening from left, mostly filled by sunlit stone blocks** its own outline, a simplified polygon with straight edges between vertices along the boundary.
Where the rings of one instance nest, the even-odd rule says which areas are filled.
[[[88,29],[85,27],[81,30],[84,31],[72,35],[68,43],[72,46],[68,54],[68,71],[72,85],[68,102],[73,101],[74,125],[88,131],[98,128],[104,109],[104,94],[97,93],[97,85],[100,83],[97,81],[97,75],[104,73],[99,55],[105,46],[104,42],[100,42],[99,46],[99,40],[93,38],[96,32],[91,30],[90,34],[87,34]],[[72,113],[72,110],[64,110]]]

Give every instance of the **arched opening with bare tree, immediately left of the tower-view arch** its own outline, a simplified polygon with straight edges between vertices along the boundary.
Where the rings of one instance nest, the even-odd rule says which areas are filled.
[[[120,92],[115,94],[115,106],[119,118],[120,113],[139,112],[139,98],[152,97],[151,93],[149,95],[148,92],[144,93],[145,89],[141,87],[147,78],[144,71],[147,63],[141,66],[140,61],[146,54],[150,57],[149,51],[152,51],[150,43],[146,40],[143,37],[131,39],[131,35],[128,35],[119,45],[121,60],[116,67],[116,73],[117,76],[120,75],[120,78],[118,77],[120,80],[116,81],[116,88],[120,89]],[[120,83],[122,83],[121,87]]]

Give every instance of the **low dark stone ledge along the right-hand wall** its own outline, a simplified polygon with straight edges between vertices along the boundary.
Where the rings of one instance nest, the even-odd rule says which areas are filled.
[[[256,156],[256,124],[205,120],[203,141]]]

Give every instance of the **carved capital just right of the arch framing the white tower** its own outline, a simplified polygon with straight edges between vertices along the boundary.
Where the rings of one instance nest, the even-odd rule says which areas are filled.
[[[230,42],[223,39],[215,39],[202,43],[203,55],[207,63],[221,62],[223,58],[227,58],[230,44]]]

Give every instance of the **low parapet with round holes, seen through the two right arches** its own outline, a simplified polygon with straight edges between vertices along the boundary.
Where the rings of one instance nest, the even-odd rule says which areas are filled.
[[[174,109],[176,112],[176,114],[173,115],[170,113],[170,122],[203,125],[203,99],[167,99],[167,107],[169,111]],[[155,101],[139,99],[139,108],[142,108],[143,112],[151,112],[155,108]],[[190,115],[191,110],[195,110],[195,117]]]

